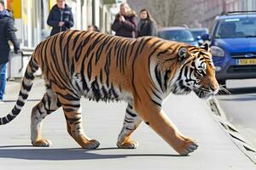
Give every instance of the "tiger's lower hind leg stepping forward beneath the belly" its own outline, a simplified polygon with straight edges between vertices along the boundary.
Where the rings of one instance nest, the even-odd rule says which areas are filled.
[[[61,99],[61,98],[60,98]],[[61,105],[67,122],[67,132],[84,149],[96,149],[100,143],[84,134],[82,126],[82,109],[79,99],[61,99]]]

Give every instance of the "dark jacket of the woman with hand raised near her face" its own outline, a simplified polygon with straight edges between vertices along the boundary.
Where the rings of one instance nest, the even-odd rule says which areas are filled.
[[[136,37],[137,19],[136,14],[129,14],[125,17],[124,22],[119,21],[119,14],[115,17],[111,29],[115,31],[116,36],[120,37]]]

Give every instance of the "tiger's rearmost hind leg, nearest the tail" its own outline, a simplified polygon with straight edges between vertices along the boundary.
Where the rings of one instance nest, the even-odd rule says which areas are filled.
[[[42,120],[51,112],[56,111],[60,106],[57,95],[48,88],[43,99],[32,109],[31,141],[33,146],[48,147],[51,144],[48,139],[42,139]]]

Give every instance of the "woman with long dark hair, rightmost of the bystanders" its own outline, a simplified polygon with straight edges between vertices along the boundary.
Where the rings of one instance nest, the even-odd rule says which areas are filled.
[[[156,22],[145,8],[140,11],[140,21],[137,27],[137,37],[143,36],[157,36]]]

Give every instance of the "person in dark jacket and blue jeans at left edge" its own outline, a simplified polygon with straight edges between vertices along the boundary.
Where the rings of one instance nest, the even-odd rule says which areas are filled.
[[[3,103],[3,94],[6,86],[6,67],[9,61],[9,41],[13,43],[15,54],[20,53],[20,43],[15,36],[14,20],[5,9],[4,2],[0,1],[0,103]]]

